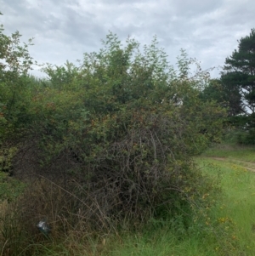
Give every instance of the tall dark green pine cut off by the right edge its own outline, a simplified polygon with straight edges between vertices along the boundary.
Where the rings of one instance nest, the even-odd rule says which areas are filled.
[[[254,143],[255,29],[238,43],[238,49],[225,60],[221,82],[224,94],[229,95],[230,121],[248,130],[248,140]]]

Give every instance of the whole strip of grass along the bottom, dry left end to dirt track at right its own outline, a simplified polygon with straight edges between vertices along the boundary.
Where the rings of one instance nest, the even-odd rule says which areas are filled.
[[[69,233],[64,241],[31,243],[20,255],[26,255],[31,247],[34,255],[255,255],[255,149],[218,145],[196,157],[195,162],[204,174],[218,181],[221,193],[211,208],[195,209],[200,217],[190,228],[184,228],[182,219],[174,223],[170,219],[151,220],[139,233]],[[3,254],[3,247],[0,256],[8,255]]]

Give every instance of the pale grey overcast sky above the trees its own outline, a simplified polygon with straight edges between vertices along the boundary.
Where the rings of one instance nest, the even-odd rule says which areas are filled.
[[[112,31],[141,44],[156,35],[170,63],[184,48],[207,69],[224,65],[255,27],[255,0],[0,0],[0,11],[5,34],[35,37],[32,57],[55,65],[98,51]]]

